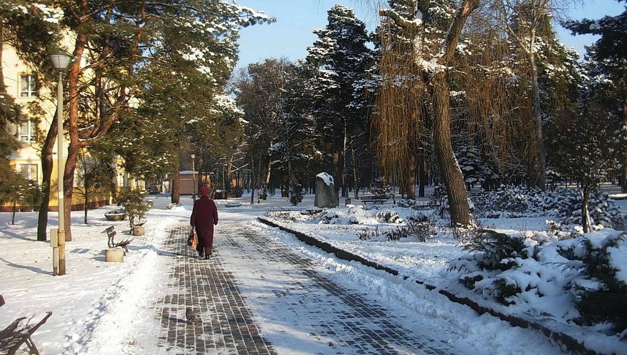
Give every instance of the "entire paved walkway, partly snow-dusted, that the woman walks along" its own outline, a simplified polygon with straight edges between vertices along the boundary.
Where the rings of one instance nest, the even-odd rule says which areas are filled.
[[[174,354],[460,354],[433,320],[380,306],[334,280],[333,272],[250,227],[221,223],[214,255],[184,244],[188,226],[164,249],[177,255],[174,292],[157,304],[159,346]],[[193,251],[193,253],[192,253]],[[201,322],[187,324],[186,307]],[[253,318],[253,314],[255,317]]]

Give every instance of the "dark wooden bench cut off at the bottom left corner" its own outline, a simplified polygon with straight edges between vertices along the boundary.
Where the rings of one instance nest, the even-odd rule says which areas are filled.
[[[0,307],[4,305],[4,298],[0,295]],[[0,332],[0,354],[1,355],[13,355],[18,351],[22,344],[28,346],[28,350],[31,354],[39,354],[39,350],[35,346],[35,343],[31,336],[39,327],[48,321],[48,318],[52,315],[52,312],[46,312],[46,316],[38,323],[34,324],[29,321],[24,323],[26,317],[19,317],[15,321],[11,322],[8,327],[4,328]]]

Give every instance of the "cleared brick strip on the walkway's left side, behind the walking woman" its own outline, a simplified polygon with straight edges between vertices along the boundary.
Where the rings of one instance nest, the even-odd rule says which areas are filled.
[[[178,226],[164,247],[179,257],[170,272],[168,286],[177,290],[157,305],[165,329],[158,346],[174,354],[277,354],[260,336],[233,275],[224,270],[219,250],[212,259],[199,259],[184,241],[189,226]],[[200,317],[188,323],[186,307]]]

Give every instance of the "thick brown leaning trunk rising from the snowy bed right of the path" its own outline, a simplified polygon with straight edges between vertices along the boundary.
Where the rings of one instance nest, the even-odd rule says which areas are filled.
[[[429,95],[433,104],[433,146],[450,205],[451,225],[472,225],[468,195],[460,166],[453,153],[450,127],[450,93],[444,73],[431,77]]]

